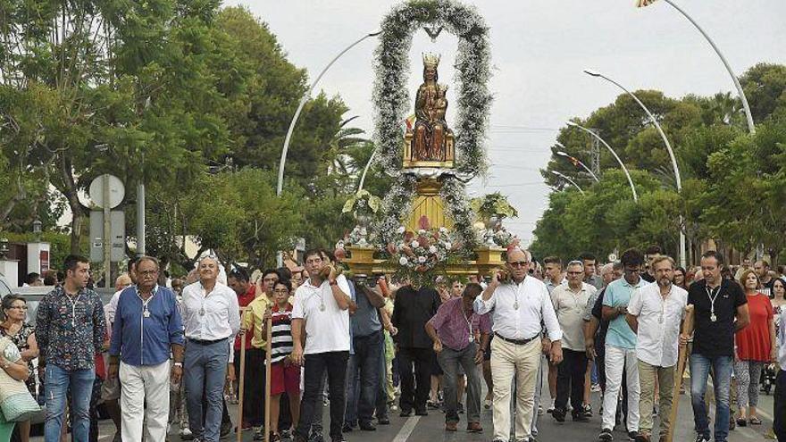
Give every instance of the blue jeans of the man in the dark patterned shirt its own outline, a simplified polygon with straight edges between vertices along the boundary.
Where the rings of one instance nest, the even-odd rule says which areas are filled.
[[[44,440],[59,442],[68,392],[71,390],[71,428],[74,442],[88,442],[90,436],[90,397],[93,395],[94,370],[63,370],[46,366],[46,423]]]

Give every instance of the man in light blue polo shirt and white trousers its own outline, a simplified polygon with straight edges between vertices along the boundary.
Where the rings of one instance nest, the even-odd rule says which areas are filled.
[[[623,369],[628,386],[628,437],[635,438],[639,433],[639,361],[636,356],[636,333],[625,321],[628,303],[633,291],[644,287],[647,281],[641,279],[644,268],[644,255],[635,249],[626,250],[620,261],[623,263],[623,278],[616,279],[606,287],[603,296],[603,319],[609,321],[606,334],[606,392],[603,396],[603,423],[598,440],[614,440],[612,430],[615,426],[617,398],[623,381]]]

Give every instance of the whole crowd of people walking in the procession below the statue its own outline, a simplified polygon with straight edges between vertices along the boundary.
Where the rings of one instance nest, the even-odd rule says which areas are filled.
[[[531,442],[547,413],[590,421],[592,391],[603,396],[598,440],[613,440],[615,429],[624,439],[665,440],[682,393],[675,382],[689,373],[696,442],[760,425],[763,377],[775,386],[773,436],[786,440],[786,279],[765,261],[733,269],[714,251],[700,263],[686,271],[650,247],[597,269],[590,254],[536,263],[514,248],[489,278],[439,278],[430,288],[347,277],[324,250],[306,252],[302,271],[266,270],[253,281],[242,267],[224,273],[214,256],[169,280],[146,256],[129,263],[105,305],[88,288],[88,260],[71,255],[35,326],[22,296],[3,299],[0,336],[15,346],[0,366],[46,404],[46,442],[69,429],[77,442],[96,441],[99,403],[115,440],[178,432],[217,442],[233,430],[227,403],[235,401],[243,418],[234,431],[255,440],[267,432],[320,442],[329,406],[332,442],[388,425],[389,413],[430,409],[445,413],[448,432],[464,414],[465,429],[482,433],[481,408],[492,410],[493,442]],[[687,373],[678,369],[681,349]],[[540,400],[543,376],[550,406]],[[27,442],[29,432],[20,422],[14,438]]]

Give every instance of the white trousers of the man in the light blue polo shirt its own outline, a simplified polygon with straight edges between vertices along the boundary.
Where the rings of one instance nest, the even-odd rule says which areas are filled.
[[[606,393],[603,395],[603,428],[614,429],[623,367],[628,387],[628,431],[639,431],[639,358],[636,350],[606,345]]]

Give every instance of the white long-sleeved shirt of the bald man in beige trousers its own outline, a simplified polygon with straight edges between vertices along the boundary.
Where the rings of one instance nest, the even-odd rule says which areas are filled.
[[[504,338],[534,338],[540,334],[542,322],[546,325],[549,339],[562,339],[562,330],[556,320],[546,284],[529,275],[518,284],[500,284],[488,301],[483,300],[482,294],[478,295],[474,308],[478,314],[493,311],[492,329]]]

